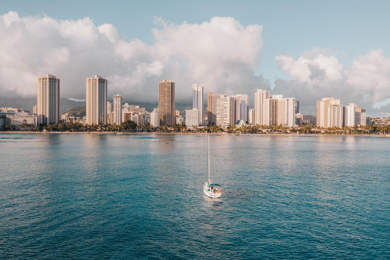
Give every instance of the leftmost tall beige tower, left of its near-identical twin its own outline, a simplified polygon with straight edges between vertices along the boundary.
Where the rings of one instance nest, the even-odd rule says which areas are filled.
[[[38,78],[37,116],[39,124],[60,122],[60,79],[53,75]]]

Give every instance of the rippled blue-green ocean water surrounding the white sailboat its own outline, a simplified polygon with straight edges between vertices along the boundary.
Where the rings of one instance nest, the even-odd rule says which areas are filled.
[[[390,258],[390,138],[210,142],[0,133],[0,258]]]

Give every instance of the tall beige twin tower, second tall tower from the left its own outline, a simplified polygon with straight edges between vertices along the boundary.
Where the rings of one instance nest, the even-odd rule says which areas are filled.
[[[107,80],[99,75],[87,78],[87,124],[107,125]]]

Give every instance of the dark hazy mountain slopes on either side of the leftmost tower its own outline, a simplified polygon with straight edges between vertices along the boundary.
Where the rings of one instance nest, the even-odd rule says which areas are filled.
[[[37,98],[2,98],[0,107],[18,107],[32,112],[32,107],[37,104]],[[67,98],[60,98],[60,114],[64,114],[74,107],[85,107],[85,101],[74,101]]]

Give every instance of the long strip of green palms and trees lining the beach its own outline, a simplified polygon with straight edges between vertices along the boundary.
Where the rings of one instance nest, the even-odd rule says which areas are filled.
[[[211,125],[205,127],[188,128],[185,125],[162,125],[152,128],[150,125],[140,125],[128,120],[120,125],[82,125],[81,123],[59,123],[52,125],[33,126],[23,122],[20,126],[5,125],[4,131],[30,131],[30,132],[147,132],[147,133],[213,133],[213,134],[390,134],[390,125],[376,126],[346,126],[339,128],[337,126],[323,128],[312,125],[302,125],[287,127],[283,125],[243,125],[241,127],[230,126],[222,128]]]

